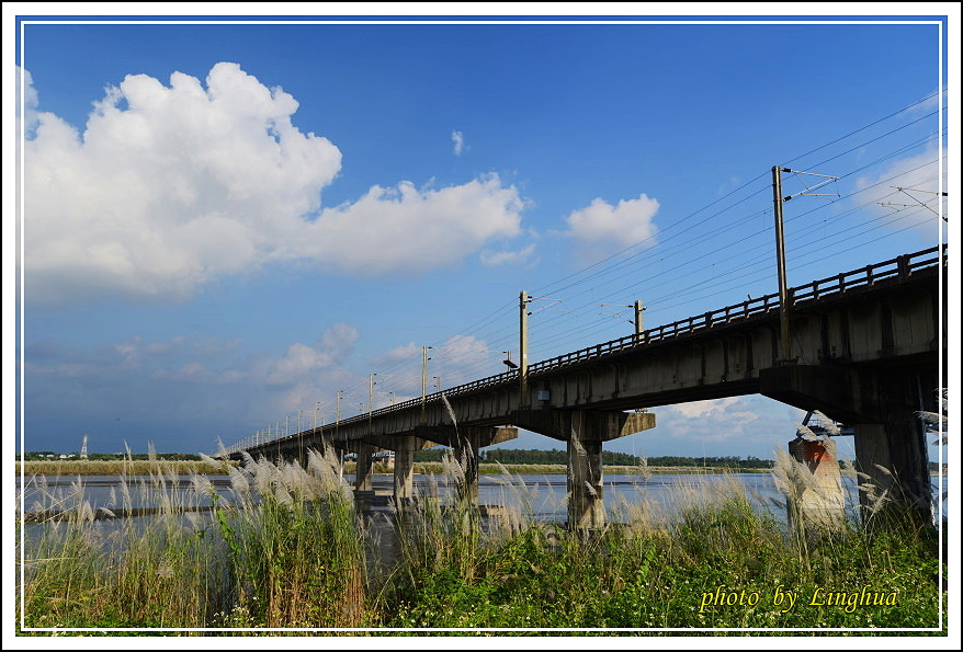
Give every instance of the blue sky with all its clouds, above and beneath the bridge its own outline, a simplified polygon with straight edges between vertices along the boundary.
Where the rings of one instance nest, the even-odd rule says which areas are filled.
[[[209,453],[372,373],[420,396],[422,346],[497,374],[523,289],[532,361],[773,293],[774,164],[840,178],[786,204],[790,285],[945,241],[940,28],[26,24],[24,447]],[[771,457],[803,416],[655,411],[607,448]]]

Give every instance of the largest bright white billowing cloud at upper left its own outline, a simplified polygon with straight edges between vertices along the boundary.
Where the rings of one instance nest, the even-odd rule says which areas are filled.
[[[298,102],[237,64],[215,65],[203,84],[181,72],[169,85],[127,76],[82,133],[35,111],[24,75],[31,301],[185,300],[272,261],[420,273],[519,232],[524,204],[496,175],[431,190],[403,180],[322,207],[341,151],[301,131]]]

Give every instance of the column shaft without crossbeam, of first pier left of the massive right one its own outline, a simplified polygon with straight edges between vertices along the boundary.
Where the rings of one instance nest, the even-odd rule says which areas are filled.
[[[602,504],[602,433],[598,420],[585,412],[570,413],[568,436],[568,527],[598,528],[605,523]]]

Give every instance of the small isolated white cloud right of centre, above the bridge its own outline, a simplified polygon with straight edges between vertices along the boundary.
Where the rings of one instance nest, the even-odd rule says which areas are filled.
[[[643,193],[637,199],[621,199],[615,206],[596,198],[586,208],[573,211],[566,218],[565,235],[576,241],[577,262],[591,264],[642,242],[654,245],[658,229],[653,218],[658,209],[659,203]]]

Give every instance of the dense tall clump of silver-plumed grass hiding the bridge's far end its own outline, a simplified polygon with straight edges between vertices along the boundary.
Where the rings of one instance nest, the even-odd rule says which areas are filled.
[[[240,505],[212,495],[234,570],[231,624],[365,624],[364,542],[337,464],[316,450],[307,468],[246,456],[230,471]]]

